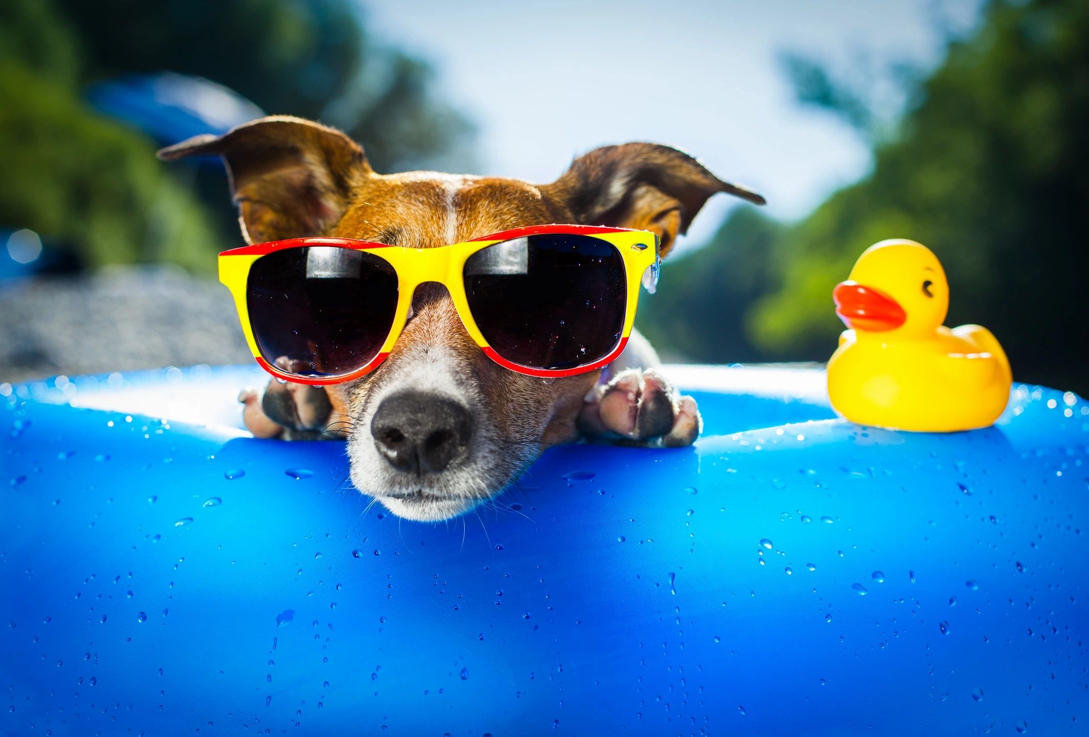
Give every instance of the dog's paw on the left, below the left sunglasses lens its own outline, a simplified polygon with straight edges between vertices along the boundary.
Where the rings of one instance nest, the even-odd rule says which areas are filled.
[[[277,366],[291,369],[287,358],[279,358]],[[333,421],[333,406],[323,386],[297,384],[278,379],[269,381],[264,393],[244,389],[238,393],[242,419],[255,438],[283,438],[284,440],[314,440],[335,438],[339,425]]]

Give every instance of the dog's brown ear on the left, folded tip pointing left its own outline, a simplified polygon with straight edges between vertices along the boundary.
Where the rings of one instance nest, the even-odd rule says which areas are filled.
[[[196,136],[158,156],[221,157],[250,244],[323,234],[340,220],[354,184],[374,173],[363,149],[340,131],[286,115]]]

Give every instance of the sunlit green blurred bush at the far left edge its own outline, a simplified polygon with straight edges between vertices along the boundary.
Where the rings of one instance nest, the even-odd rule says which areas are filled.
[[[0,223],[30,228],[90,265],[170,258],[209,267],[218,234],[156,146],[81,99],[78,42],[48,3],[0,5]]]

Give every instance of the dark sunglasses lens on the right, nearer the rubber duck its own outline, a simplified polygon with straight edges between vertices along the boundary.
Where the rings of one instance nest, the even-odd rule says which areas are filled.
[[[624,329],[627,279],[615,246],[588,235],[530,235],[465,262],[477,327],[500,357],[536,369],[604,358]]]

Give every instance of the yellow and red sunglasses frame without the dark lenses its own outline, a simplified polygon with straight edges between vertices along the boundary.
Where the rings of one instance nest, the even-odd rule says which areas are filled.
[[[465,281],[463,272],[465,261],[473,254],[493,246],[497,243],[513,241],[530,235],[544,234],[571,234],[588,235],[604,241],[613,245],[624,260],[625,275],[627,280],[626,305],[624,314],[624,328],[621,331],[620,340],[609,354],[590,364],[565,369],[538,369],[529,366],[522,366],[506,360],[500,356],[488,344],[488,341],[477,328],[476,320],[469,310],[468,297],[465,294]],[[367,250],[368,253],[388,262],[397,275],[397,305],[394,311],[393,323],[390,332],[386,336],[382,347],[366,366],[355,369],[348,373],[339,376],[305,377],[287,373],[274,364],[269,363],[262,355],[249,321],[249,308],[246,303],[246,284],[249,279],[249,270],[254,263],[268,254],[287,248],[299,248],[303,246],[333,246],[338,248],[351,248],[354,250]],[[649,231],[635,231],[623,228],[603,228],[591,225],[533,225],[519,228],[502,233],[493,233],[473,241],[456,243],[438,248],[406,248],[404,246],[390,246],[384,243],[372,243],[369,241],[356,241],[352,238],[333,237],[308,237],[291,238],[287,241],[273,241],[253,246],[244,246],[224,250],[219,255],[219,280],[231,291],[234,297],[234,306],[238,310],[238,319],[242,322],[242,332],[246,336],[246,344],[253,353],[254,358],[266,371],[285,381],[302,384],[326,385],[337,384],[358,379],[375,370],[386,357],[389,356],[401,336],[405,324],[408,322],[408,315],[412,308],[413,295],[416,287],[427,282],[437,282],[446,287],[450,297],[454,303],[454,308],[465,325],[473,341],[500,366],[509,368],[518,373],[534,377],[566,377],[578,373],[586,373],[597,370],[616,359],[624,351],[627,340],[632,334],[635,324],[635,309],[639,299],[639,285],[643,283],[644,273],[651,269],[651,285],[658,279],[659,266],[659,239]],[[651,286],[652,288],[652,286]]]

